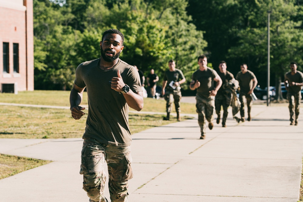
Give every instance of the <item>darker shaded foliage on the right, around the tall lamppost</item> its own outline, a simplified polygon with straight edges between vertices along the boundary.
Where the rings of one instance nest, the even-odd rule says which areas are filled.
[[[268,11],[271,11],[271,85],[275,85],[289,70],[290,61],[303,62],[302,30],[296,29],[302,25],[302,3],[300,0],[189,0],[187,10],[197,29],[205,31],[209,61],[216,65],[220,60],[227,61],[229,71],[234,74],[245,62],[264,88],[267,84]],[[201,6],[204,12],[198,12]]]

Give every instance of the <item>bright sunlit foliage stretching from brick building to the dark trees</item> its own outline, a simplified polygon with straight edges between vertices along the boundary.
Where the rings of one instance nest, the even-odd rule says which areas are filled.
[[[110,28],[124,34],[120,58],[128,64],[162,78],[174,59],[190,80],[207,43],[186,6],[185,0],[34,0],[35,88],[70,89],[77,66],[100,57]]]

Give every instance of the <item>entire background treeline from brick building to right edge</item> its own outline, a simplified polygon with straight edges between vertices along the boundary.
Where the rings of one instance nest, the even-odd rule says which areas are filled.
[[[303,0],[34,0],[35,89],[70,90],[83,61],[100,57],[102,33],[125,35],[120,58],[145,75],[159,75],[174,59],[187,84],[208,56],[234,75],[245,62],[267,84],[267,18],[270,15],[271,85],[280,84],[289,62],[303,64]],[[279,89],[279,88],[277,88]],[[278,96],[278,94],[277,94]]]

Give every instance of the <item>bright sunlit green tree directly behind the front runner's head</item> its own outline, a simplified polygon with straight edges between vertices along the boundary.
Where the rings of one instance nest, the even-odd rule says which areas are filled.
[[[117,28],[125,35],[121,59],[137,65],[145,74],[154,68],[160,79],[174,59],[190,80],[197,68],[196,59],[206,41],[203,32],[189,23],[185,0],[165,1],[104,1],[92,0],[87,8],[85,25],[88,30]]]

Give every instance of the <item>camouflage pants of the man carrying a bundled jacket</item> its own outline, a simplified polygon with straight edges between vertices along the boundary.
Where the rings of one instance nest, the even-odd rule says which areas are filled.
[[[229,96],[219,95],[216,96],[215,98],[215,109],[219,119],[221,117],[221,106],[223,108],[222,125],[225,125],[226,123],[226,119],[228,115],[227,109],[230,104],[231,104],[231,95]]]

